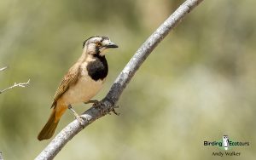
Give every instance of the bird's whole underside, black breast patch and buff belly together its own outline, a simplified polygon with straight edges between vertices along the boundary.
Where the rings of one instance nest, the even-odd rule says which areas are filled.
[[[88,57],[80,66],[77,83],[67,89],[62,100],[67,104],[86,102],[93,98],[105,82],[108,75],[108,63],[105,57]]]

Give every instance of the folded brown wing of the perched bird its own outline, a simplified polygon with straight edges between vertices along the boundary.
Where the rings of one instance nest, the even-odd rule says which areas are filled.
[[[67,71],[67,74],[65,75],[65,77],[63,77],[59,85],[59,88],[55,92],[55,97],[51,105],[51,108],[56,106],[57,100],[61,98],[61,95],[64,94],[67,91],[67,89],[69,89],[70,86],[72,86],[74,83],[77,83],[79,76],[80,76],[79,65],[75,65],[71,67],[69,71]]]

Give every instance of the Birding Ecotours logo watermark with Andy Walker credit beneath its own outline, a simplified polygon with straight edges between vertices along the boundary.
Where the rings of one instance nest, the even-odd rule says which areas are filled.
[[[213,151],[212,156],[240,156],[240,151],[230,151],[238,147],[250,146],[249,141],[233,140],[229,135],[223,135],[222,140],[204,141],[204,146],[216,146],[220,151]],[[223,151],[221,151],[223,150]]]

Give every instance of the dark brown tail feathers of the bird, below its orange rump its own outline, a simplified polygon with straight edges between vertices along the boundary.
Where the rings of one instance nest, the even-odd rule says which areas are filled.
[[[38,134],[38,140],[48,140],[55,133],[55,129],[60,121],[60,118],[56,118],[56,110],[53,109],[50,114],[48,122],[44,125],[44,128]]]

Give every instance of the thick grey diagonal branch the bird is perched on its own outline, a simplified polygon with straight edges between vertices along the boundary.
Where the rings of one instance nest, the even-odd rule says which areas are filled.
[[[143,64],[143,61],[147,59],[148,55],[163,40],[163,38],[177,26],[178,22],[183,20],[183,17],[202,1],[203,0],[185,1],[137,50],[136,54],[133,55],[123,71],[121,71],[119,77],[116,78],[106,97],[101,100],[101,106],[92,106],[89,110],[84,111],[81,115],[84,119],[83,126],[81,126],[77,120],[69,123],[65,129],[62,129],[61,132],[55,136],[36,159],[53,159],[73,136],[78,134],[90,123],[93,123],[96,119],[114,111],[120,95],[126,85],[131,81],[131,77],[134,76],[138,68]]]

